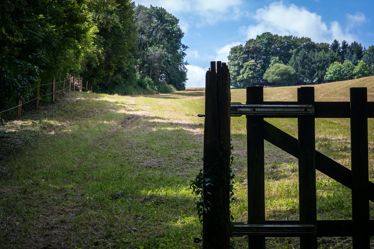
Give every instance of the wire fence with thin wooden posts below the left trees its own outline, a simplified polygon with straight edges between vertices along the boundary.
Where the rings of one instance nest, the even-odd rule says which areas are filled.
[[[65,83],[66,82],[68,82],[68,86],[67,87],[65,87]],[[59,83],[63,83],[62,89],[55,91],[55,84],[59,84]],[[86,87],[83,87],[82,83],[83,83],[83,78],[82,77],[79,78],[79,80],[76,80],[76,77],[75,76],[71,76],[71,75],[69,75],[68,79],[64,78],[63,81],[59,81],[59,82],[55,82],[55,79],[53,79],[52,83],[40,84],[40,80],[39,80],[38,85],[36,87],[32,88],[33,90],[37,89],[37,93],[36,93],[36,97],[35,98],[33,98],[31,100],[28,100],[27,102],[24,102],[24,103],[22,103],[21,99],[19,99],[18,105],[14,106],[12,108],[9,108],[7,110],[0,111],[0,114],[4,113],[6,111],[10,111],[10,110],[18,107],[17,118],[19,119],[21,117],[21,108],[22,108],[22,105],[25,105],[27,103],[30,103],[30,102],[36,100],[36,109],[38,109],[39,108],[39,99],[41,97],[43,97],[43,96],[50,95],[51,98],[52,98],[52,102],[54,102],[55,101],[55,95],[56,95],[56,93],[62,92],[61,96],[62,96],[62,98],[64,98],[64,93],[65,93],[66,89],[69,89],[69,93],[70,93],[71,89],[73,90],[73,92],[75,92],[75,90],[77,90],[79,92],[82,92],[83,89],[85,89],[86,92],[88,92],[90,89],[92,91],[92,86],[88,85],[88,81],[86,81]],[[40,95],[40,87],[41,86],[46,86],[46,85],[52,85],[52,89],[51,89],[50,93],[46,93],[46,94]]]

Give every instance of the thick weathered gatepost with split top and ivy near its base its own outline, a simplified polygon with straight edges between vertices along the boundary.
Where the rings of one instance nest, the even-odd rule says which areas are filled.
[[[216,71],[217,69],[217,71]],[[230,247],[230,74],[211,62],[205,77],[203,249]],[[211,183],[211,185],[206,185]]]

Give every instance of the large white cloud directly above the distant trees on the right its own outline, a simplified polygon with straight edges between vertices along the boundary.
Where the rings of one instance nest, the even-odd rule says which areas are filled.
[[[252,18],[257,24],[242,29],[247,39],[256,38],[258,34],[264,32],[282,36],[309,37],[314,42],[327,43],[331,43],[334,39],[353,42],[356,38],[349,32],[343,32],[338,22],[332,22],[328,27],[320,15],[295,4],[285,5],[282,1],[257,9]],[[359,19],[359,15],[356,18]]]

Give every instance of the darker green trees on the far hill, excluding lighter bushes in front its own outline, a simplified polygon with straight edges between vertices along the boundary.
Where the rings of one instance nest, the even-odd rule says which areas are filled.
[[[243,70],[244,64],[254,60],[261,66],[263,72],[258,76],[262,81],[264,72],[270,65],[275,63],[286,64],[295,70],[297,84],[318,84],[325,82],[327,68],[334,61],[343,63],[344,60],[351,61],[353,65],[358,64],[361,58],[368,64],[373,56],[373,49],[364,51],[361,43],[346,41],[340,43],[334,40],[331,44],[315,43],[308,37],[279,36],[270,32],[258,35],[256,39],[249,39],[245,46],[232,47],[228,56],[230,68],[231,85],[234,87],[245,87],[243,82],[248,70]],[[368,61],[368,62],[367,62]],[[369,67],[372,64],[368,64]],[[344,79],[352,79],[352,65],[346,63],[341,71]],[[257,77],[257,76],[256,76]],[[331,80],[331,75],[329,76]],[[252,81],[253,82],[253,81]]]

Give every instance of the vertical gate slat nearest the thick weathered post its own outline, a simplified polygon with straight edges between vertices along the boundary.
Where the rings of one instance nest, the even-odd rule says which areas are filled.
[[[263,104],[262,86],[247,87],[247,104]],[[264,118],[247,116],[248,224],[265,224]],[[248,236],[249,249],[264,249],[264,236]]]

